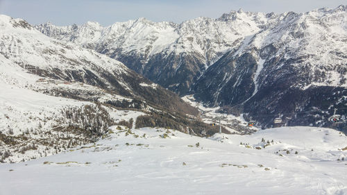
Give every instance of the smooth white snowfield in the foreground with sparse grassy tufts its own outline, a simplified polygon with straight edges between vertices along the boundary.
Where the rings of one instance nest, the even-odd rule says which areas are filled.
[[[94,145],[1,164],[1,194],[347,193],[347,151],[341,150],[347,137],[336,130],[274,128],[205,139],[162,128],[115,128]],[[269,146],[262,147],[262,138]]]

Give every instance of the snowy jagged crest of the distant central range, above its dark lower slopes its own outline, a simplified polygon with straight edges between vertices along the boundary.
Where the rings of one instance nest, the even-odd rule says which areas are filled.
[[[346,10],[346,6],[335,9],[321,8],[305,13],[284,12],[282,14],[231,11],[218,19],[198,17],[181,24],[172,22],[151,22],[145,18],[116,22],[101,26],[97,22],[87,22],[81,26],[55,26],[50,22],[35,26],[42,33],[59,40],[76,42],[83,46],[96,46],[108,43],[110,48],[121,48],[122,52],[153,56],[155,53],[198,52],[206,57],[207,64],[218,58],[217,53],[225,52],[228,46],[241,38],[255,35],[262,29],[273,25],[289,15],[311,15],[323,17],[324,14]],[[71,39],[71,36],[74,36]],[[220,42],[220,43],[219,43]],[[209,50],[214,50],[210,56]],[[216,56],[217,55],[217,56]]]

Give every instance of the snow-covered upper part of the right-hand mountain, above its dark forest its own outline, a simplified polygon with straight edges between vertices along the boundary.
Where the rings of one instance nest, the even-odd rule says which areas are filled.
[[[294,70],[306,68],[308,79],[296,83],[306,89],[314,85],[347,87],[343,81],[346,74],[340,71],[346,66],[346,18],[346,6],[305,13],[286,12],[273,22],[276,25],[271,24],[255,34],[251,42],[234,56],[259,49],[257,71],[253,77],[255,85],[262,84],[271,71],[290,65]],[[272,50],[271,46],[276,49]],[[264,68],[276,58],[280,58],[276,67]],[[289,60],[294,62],[288,63]],[[260,75],[262,79],[258,80]]]

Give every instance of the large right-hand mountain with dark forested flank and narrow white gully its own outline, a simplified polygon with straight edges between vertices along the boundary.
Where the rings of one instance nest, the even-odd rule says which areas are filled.
[[[268,126],[278,115],[289,125],[331,126],[333,108],[346,114],[346,18],[346,6],[279,15],[215,62],[192,91]]]

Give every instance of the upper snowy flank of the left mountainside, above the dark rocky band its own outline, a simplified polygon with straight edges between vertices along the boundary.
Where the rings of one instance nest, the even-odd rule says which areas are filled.
[[[127,74],[128,69],[121,62],[111,60],[88,49],[82,49],[75,44],[58,42],[43,35],[22,19],[12,19],[6,15],[0,16],[1,54],[13,64],[19,65],[36,74],[56,74],[62,79],[74,79],[69,72],[90,69],[98,77],[97,68],[115,74]],[[44,69],[45,73],[40,73]],[[58,70],[57,70],[58,69]],[[57,72],[54,72],[57,71]],[[53,72],[53,73],[52,73]],[[51,76],[53,77],[53,76]],[[105,85],[111,85],[103,79]],[[120,84],[129,89],[126,83]]]

